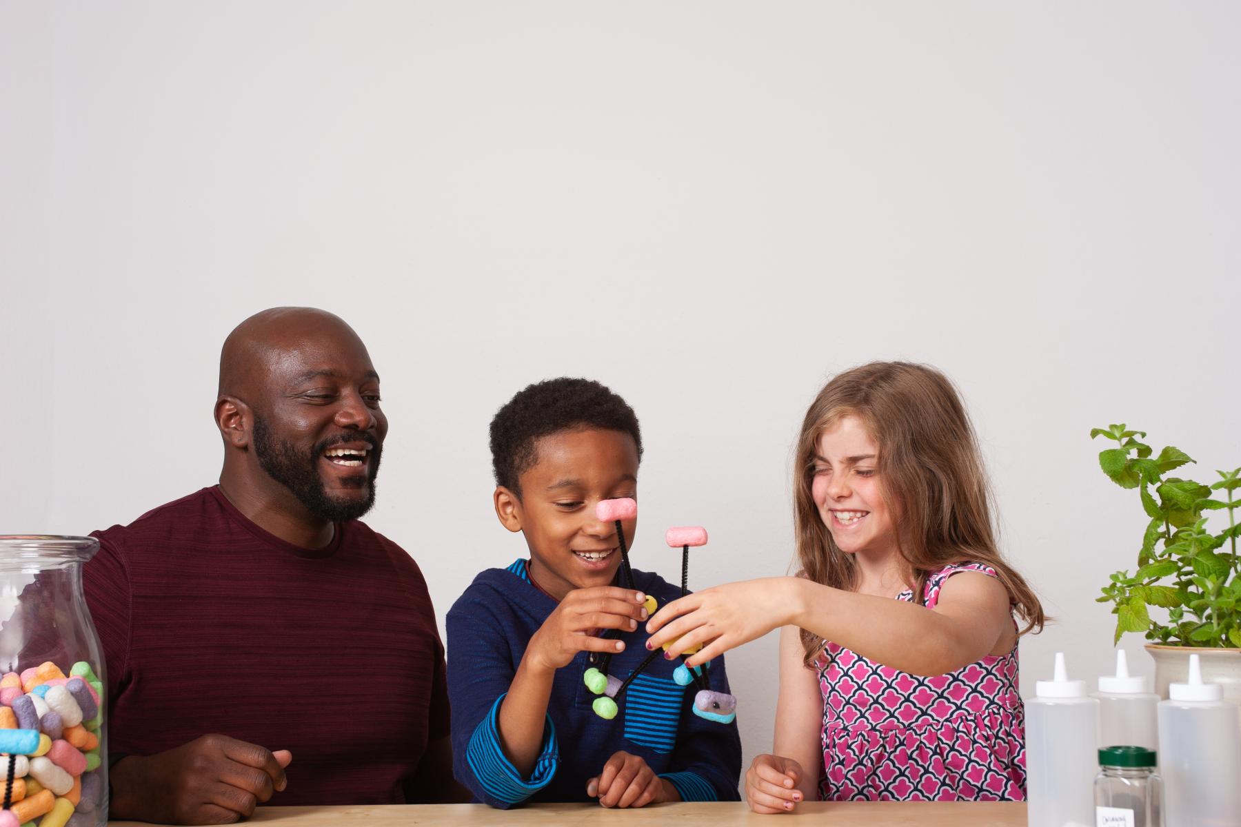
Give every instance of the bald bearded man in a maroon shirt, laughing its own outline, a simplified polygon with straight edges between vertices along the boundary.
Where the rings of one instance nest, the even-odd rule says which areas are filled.
[[[359,521],[387,434],[357,335],[277,307],[225,341],[220,485],[97,532],[114,820],[468,801],[414,562]]]

